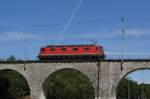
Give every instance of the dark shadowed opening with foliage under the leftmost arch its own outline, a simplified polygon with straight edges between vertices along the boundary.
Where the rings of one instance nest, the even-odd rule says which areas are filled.
[[[20,72],[13,69],[0,70],[0,97],[2,99],[30,99],[29,84]]]

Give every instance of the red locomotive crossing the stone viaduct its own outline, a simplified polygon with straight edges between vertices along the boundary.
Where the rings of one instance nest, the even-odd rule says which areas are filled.
[[[104,59],[103,47],[90,45],[48,45],[40,49],[39,60],[99,60]]]

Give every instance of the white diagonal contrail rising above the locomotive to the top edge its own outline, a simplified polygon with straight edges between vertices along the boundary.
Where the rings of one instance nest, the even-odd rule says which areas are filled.
[[[81,1],[79,2],[79,4],[75,7],[75,9],[74,9],[74,11],[73,11],[71,17],[69,18],[69,20],[68,20],[67,23],[65,24],[64,28],[61,30],[56,45],[58,45],[58,44],[61,42],[61,40],[63,39],[63,34],[65,33],[65,31],[66,31],[66,30],[68,29],[68,27],[70,26],[70,24],[71,24],[72,20],[74,19],[75,15],[76,15],[76,13],[77,13],[77,11],[78,11],[78,9],[80,8],[80,6],[83,4],[84,1],[85,1],[85,0],[81,0]]]

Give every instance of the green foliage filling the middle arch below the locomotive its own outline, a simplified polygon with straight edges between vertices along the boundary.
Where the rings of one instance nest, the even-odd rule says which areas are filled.
[[[82,73],[62,70],[48,81],[47,99],[94,99],[93,87]]]

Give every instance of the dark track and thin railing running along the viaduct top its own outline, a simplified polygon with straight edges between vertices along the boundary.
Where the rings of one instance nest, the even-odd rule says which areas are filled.
[[[124,61],[136,61],[136,62],[141,62],[141,61],[150,61],[150,55],[124,55],[123,57],[120,55],[107,55],[105,57],[105,59],[96,59],[96,60],[70,60],[70,61],[64,61],[64,60],[45,60],[45,61],[41,61],[36,59],[27,59],[26,61],[24,61],[23,59],[16,59],[14,61],[8,61],[6,58],[0,58],[0,63],[7,63],[7,64],[11,64],[11,63],[81,63],[81,62],[99,62],[99,61],[104,61],[104,62],[119,62],[121,60]]]

